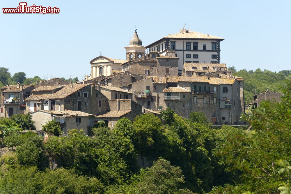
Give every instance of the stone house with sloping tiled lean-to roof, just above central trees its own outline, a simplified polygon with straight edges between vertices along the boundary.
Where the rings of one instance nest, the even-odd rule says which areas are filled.
[[[141,105],[130,99],[108,100],[108,102],[109,111],[104,114],[97,115],[95,117],[95,122],[103,120],[105,121],[106,125],[111,129],[122,117],[128,118],[133,121],[133,119],[137,115],[142,113]]]

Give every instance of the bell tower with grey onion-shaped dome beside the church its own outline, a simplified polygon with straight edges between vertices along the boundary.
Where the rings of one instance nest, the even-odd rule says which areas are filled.
[[[129,46],[124,47],[126,49],[126,60],[131,61],[142,57],[145,54],[145,47],[142,45],[142,41],[137,35],[136,29],[129,41]]]

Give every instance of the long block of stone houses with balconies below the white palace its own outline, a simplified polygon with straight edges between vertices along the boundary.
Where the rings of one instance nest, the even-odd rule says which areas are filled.
[[[140,91],[149,90],[146,95]],[[240,83],[219,77],[149,77],[132,83],[134,101],[144,108],[165,110],[171,107],[188,118],[191,111],[201,111],[214,124],[240,124],[243,110]],[[243,98],[243,97],[242,97]]]

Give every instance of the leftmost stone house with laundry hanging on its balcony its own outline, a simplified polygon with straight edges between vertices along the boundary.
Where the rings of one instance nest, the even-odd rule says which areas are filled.
[[[23,114],[25,112],[25,99],[34,89],[33,85],[7,85],[0,88],[0,117],[11,117],[13,114]]]

